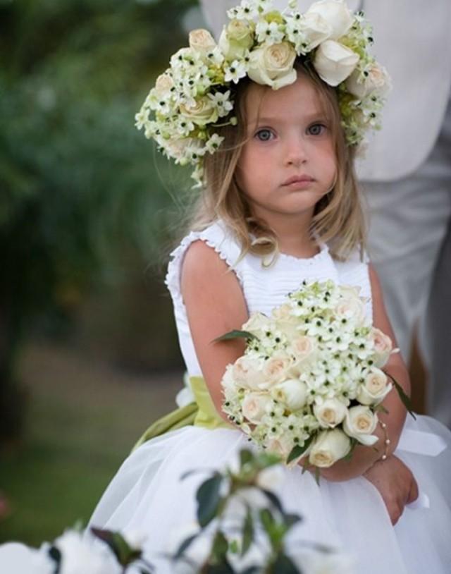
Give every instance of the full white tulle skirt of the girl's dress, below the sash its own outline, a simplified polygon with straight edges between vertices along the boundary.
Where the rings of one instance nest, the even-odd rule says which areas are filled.
[[[171,572],[161,551],[194,523],[194,493],[209,470],[249,448],[242,432],[185,427],[143,444],[123,463],[90,525],[147,534],[145,551],[158,573]],[[302,515],[297,539],[340,547],[356,560],[357,574],[451,573],[451,433],[430,417],[407,418],[395,452],[412,470],[420,498],[393,526],[383,500],[364,477],[328,482],[299,467],[285,468],[276,491],[288,511]],[[188,470],[204,469],[185,480]],[[165,566],[166,565],[166,566]]]

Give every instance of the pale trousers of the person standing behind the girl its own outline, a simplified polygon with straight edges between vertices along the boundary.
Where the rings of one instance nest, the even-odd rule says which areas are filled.
[[[419,322],[428,411],[451,428],[451,99],[424,164],[399,181],[364,182],[364,189],[369,255],[397,344],[409,360]]]

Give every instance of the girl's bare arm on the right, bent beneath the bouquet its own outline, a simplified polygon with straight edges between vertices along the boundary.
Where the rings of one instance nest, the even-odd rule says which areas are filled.
[[[393,341],[393,346],[396,346],[395,335],[388,320],[385,305],[383,303],[381,284],[379,283],[378,276],[373,267],[369,266],[369,276],[371,281],[371,295],[373,298],[373,324],[378,329],[381,329]],[[390,356],[383,370],[392,375],[393,378],[402,386],[404,392],[410,396],[410,381],[407,367],[404,364],[400,353],[395,353]],[[387,434],[390,444],[387,445],[387,455],[390,456],[397,446],[404,425],[404,420],[407,411],[400,400],[396,389],[388,393],[383,401],[383,406],[388,410],[388,414],[379,413],[379,420],[385,422],[387,425]],[[377,451],[368,446],[357,446],[352,453],[350,460],[339,460],[335,465],[321,471],[321,476],[328,480],[342,481],[363,475],[364,472],[379,460],[385,452],[385,435],[378,425],[376,433],[379,436],[379,441],[376,443]]]

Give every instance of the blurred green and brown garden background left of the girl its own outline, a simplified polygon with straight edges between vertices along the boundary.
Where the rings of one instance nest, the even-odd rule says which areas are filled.
[[[189,178],[134,115],[202,25],[195,0],[0,0],[0,542],[87,520],[173,407]]]

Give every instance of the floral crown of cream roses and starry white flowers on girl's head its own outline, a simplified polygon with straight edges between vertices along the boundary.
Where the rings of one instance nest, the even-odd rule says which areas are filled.
[[[297,11],[297,0],[283,12],[271,0],[242,0],[227,15],[218,44],[207,30],[190,32],[190,47],[173,54],[135,116],[163,154],[194,166],[194,187],[202,185],[204,155],[224,140],[217,128],[237,124],[230,87],[245,77],[273,90],[290,85],[297,56],[337,90],[347,145],[380,129],[390,78],[369,54],[372,31],[362,12],[350,13],[344,0],[320,0],[305,13]]]

